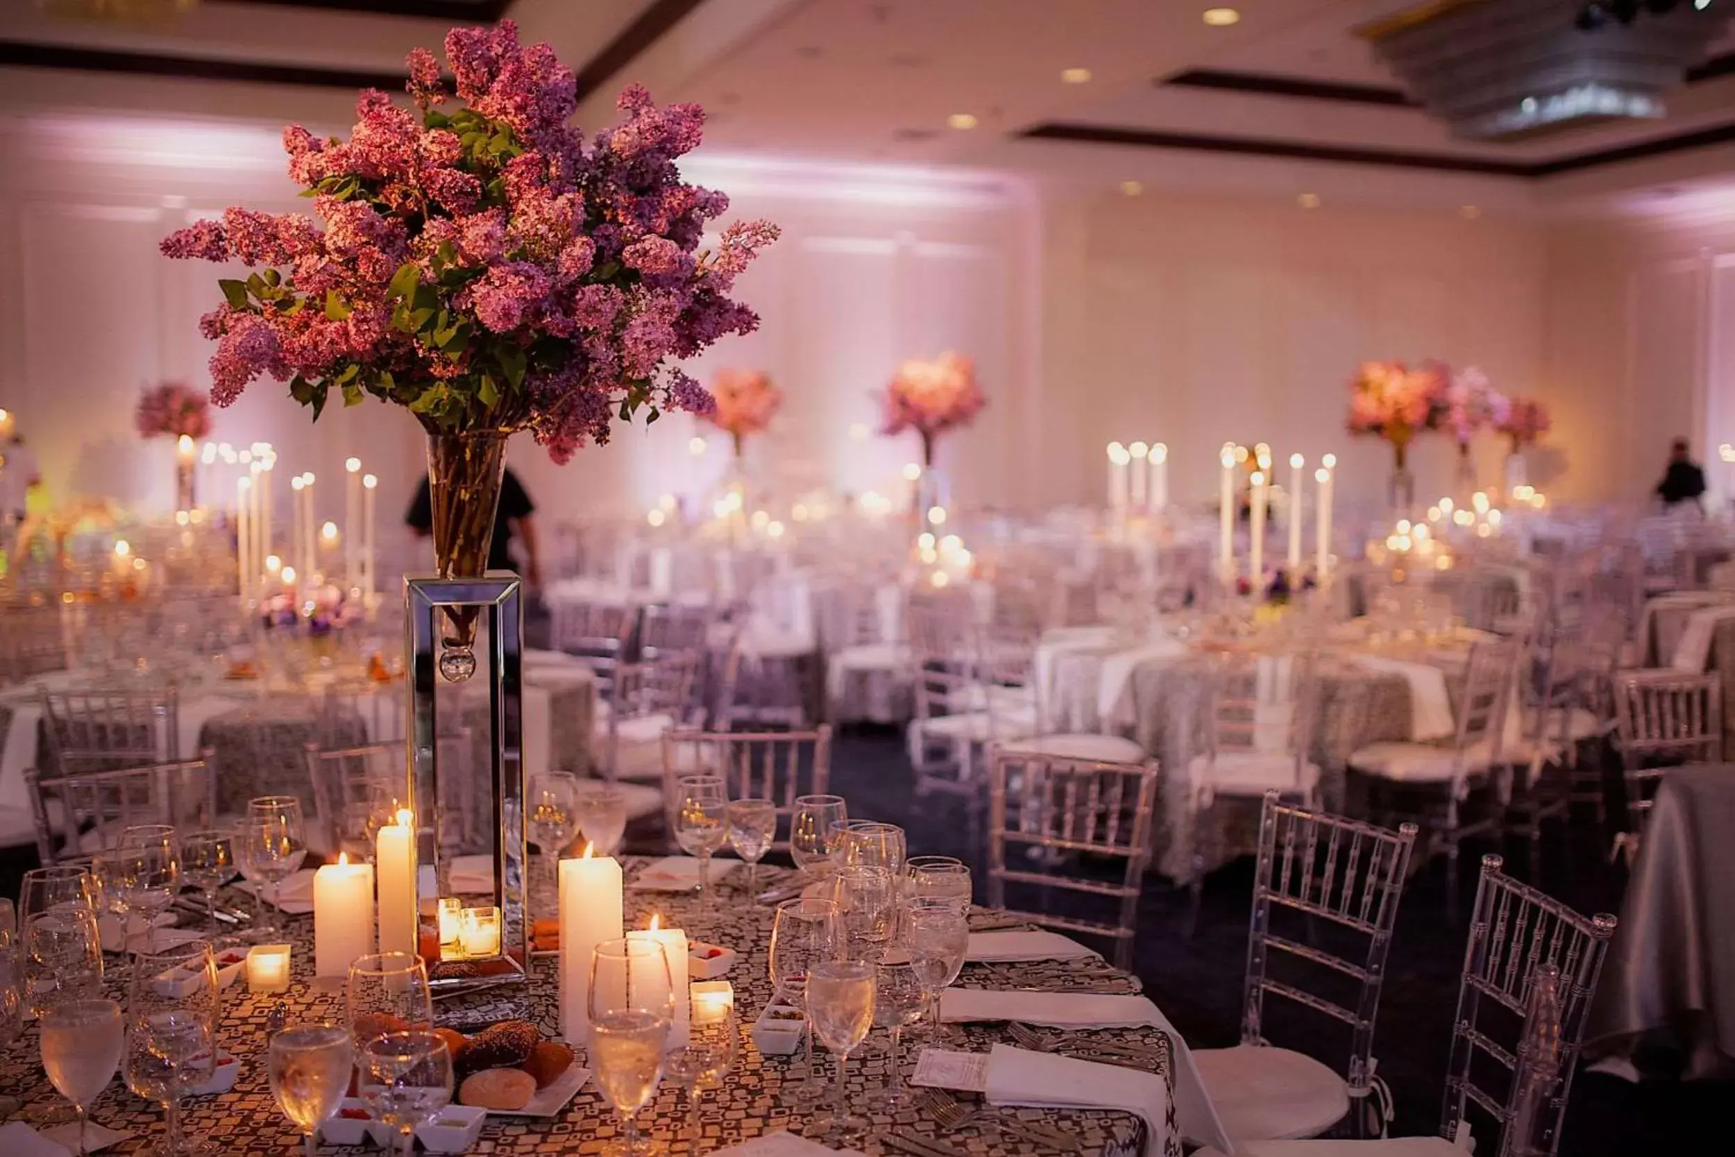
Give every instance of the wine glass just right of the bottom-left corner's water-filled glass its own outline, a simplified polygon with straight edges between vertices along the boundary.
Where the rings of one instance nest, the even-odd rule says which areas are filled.
[[[180,1096],[217,1063],[217,958],[210,940],[139,952],[127,1003],[127,1088],[163,1105],[160,1157],[215,1154],[180,1131]]]

